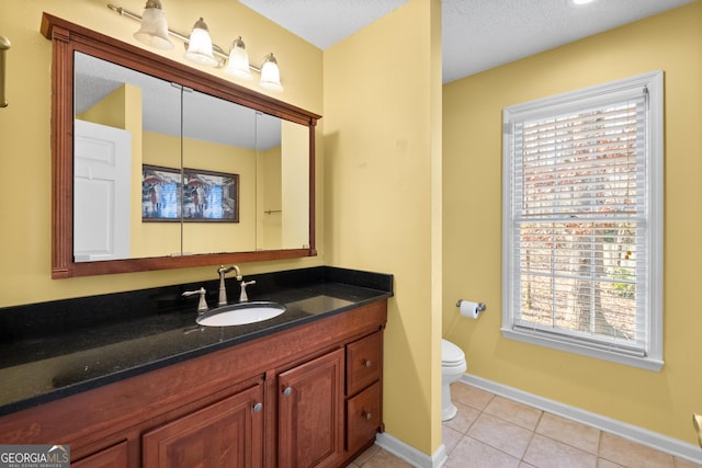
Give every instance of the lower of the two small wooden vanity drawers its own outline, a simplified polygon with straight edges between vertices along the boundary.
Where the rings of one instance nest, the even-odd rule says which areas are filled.
[[[381,383],[376,381],[347,401],[347,450],[355,453],[381,426]]]

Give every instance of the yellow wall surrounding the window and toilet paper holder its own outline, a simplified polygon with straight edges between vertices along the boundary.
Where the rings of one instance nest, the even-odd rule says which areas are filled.
[[[501,336],[501,110],[665,71],[665,318],[661,372]],[[702,264],[702,1],[444,87],[443,333],[468,373],[689,443],[702,411],[697,309]],[[458,298],[487,303],[460,318]]]

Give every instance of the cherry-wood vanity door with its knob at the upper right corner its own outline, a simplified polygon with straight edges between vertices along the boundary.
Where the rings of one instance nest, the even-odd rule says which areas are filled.
[[[145,433],[144,466],[261,467],[262,395],[259,384]]]

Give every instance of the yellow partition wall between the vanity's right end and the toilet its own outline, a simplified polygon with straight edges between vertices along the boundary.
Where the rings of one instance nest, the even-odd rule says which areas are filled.
[[[326,255],[395,275],[384,419],[389,434],[427,454],[441,443],[441,311],[432,309],[441,293],[432,289],[440,8],[410,0],[325,50]]]

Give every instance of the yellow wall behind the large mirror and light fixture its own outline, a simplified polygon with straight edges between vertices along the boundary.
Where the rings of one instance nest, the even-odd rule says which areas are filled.
[[[116,3],[137,13],[144,8],[144,0],[123,0]],[[3,192],[13,194],[0,197],[0,307],[216,278],[215,265],[59,281],[50,278],[52,43],[39,34],[44,11],[141,47],[132,37],[138,23],[111,11],[103,0],[0,2],[0,34],[12,43],[7,53],[5,93],[10,105],[0,109],[0,173],[4,178]],[[254,64],[273,52],[281,67],[285,92],[272,95],[321,114],[322,53],[318,48],[236,1],[169,0],[166,2],[166,14],[170,27],[184,33],[191,30],[200,15],[204,15],[213,41],[223,47],[227,47],[236,36],[242,35],[249,57]],[[170,52],[150,50],[192,66],[182,58],[180,43]],[[222,70],[202,69],[228,79]],[[264,92],[254,81],[245,85]],[[319,141],[321,132],[324,126],[320,123]],[[321,144],[317,148],[318,161],[322,161]],[[317,173],[321,172],[319,163]],[[321,186],[320,184],[317,191],[317,221],[320,227],[324,207]],[[324,264],[321,229],[317,232],[317,248],[320,252],[317,258],[240,266],[245,274],[254,274]]]

